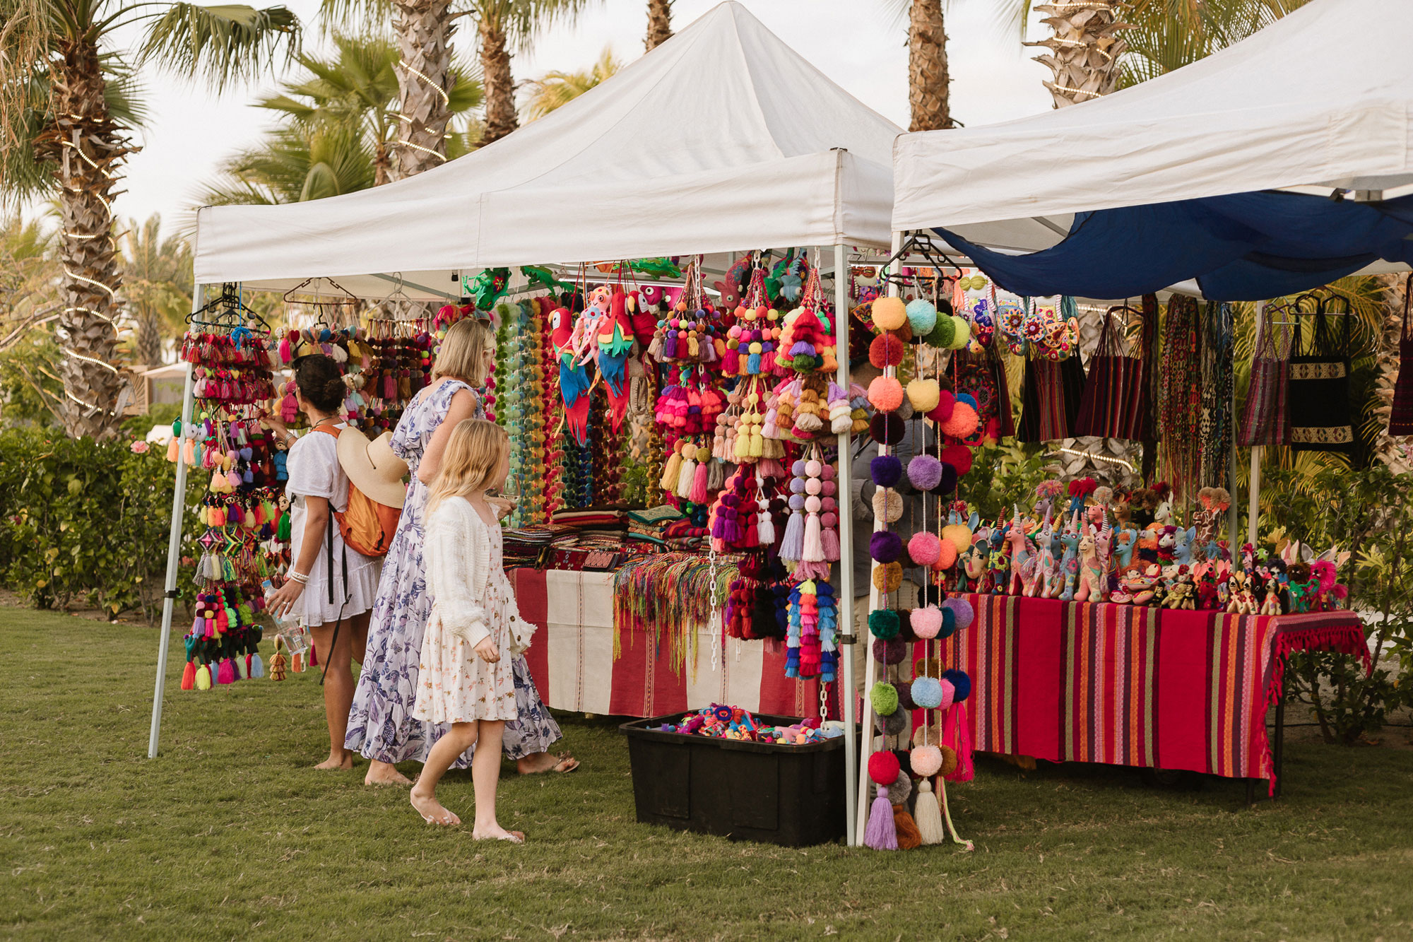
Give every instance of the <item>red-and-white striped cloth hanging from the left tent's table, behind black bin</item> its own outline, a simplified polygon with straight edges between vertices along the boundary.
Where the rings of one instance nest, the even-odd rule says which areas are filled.
[[[613,573],[510,570],[520,614],[538,627],[526,661],[540,697],[557,710],[650,717],[712,703],[752,713],[818,716],[820,685],[786,678],[786,652],[728,638],[712,666],[712,636],[697,629],[697,656],[680,672],[666,642],[625,629],[613,656]]]

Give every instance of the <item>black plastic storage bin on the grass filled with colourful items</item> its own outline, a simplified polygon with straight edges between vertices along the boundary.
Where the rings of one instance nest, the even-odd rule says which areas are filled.
[[[660,733],[671,714],[625,723],[644,825],[808,847],[844,837],[844,738],[773,745]],[[798,719],[756,716],[766,726]]]

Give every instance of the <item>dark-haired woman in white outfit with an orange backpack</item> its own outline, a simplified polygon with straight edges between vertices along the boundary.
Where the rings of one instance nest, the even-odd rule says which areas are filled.
[[[338,362],[322,354],[301,356],[294,364],[294,386],[311,429],[290,447],[284,492],[290,498],[291,563],[270,605],[276,614],[292,612],[309,627],[314,649],[325,663],[329,757],[315,768],[353,768],[353,752],[343,747],[353,703],[352,662],[363,661],[382,560],[346,547],[333,519],[349,502],[349,479],[338,454],[338,433],[345,427],[339,410],[346,392]],[[266,417],[264,423],[294,437],[276,419]]]

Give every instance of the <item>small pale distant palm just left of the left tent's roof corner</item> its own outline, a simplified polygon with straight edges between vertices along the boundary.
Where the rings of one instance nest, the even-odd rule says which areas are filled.
[[[123,233],[123,293],[136,325],[133,359],[146,366],[162,362],[167,339],[178,335],[191,310],[192,257],[187,239],[161,238],[162,218],[127,221]]]

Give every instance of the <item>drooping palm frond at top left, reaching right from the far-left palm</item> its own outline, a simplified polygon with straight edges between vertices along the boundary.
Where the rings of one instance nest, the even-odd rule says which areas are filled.
[[[148,25],[138,61],[219,91],[257,79],[298,52],[300,20],[287,7],[174,3]]]

